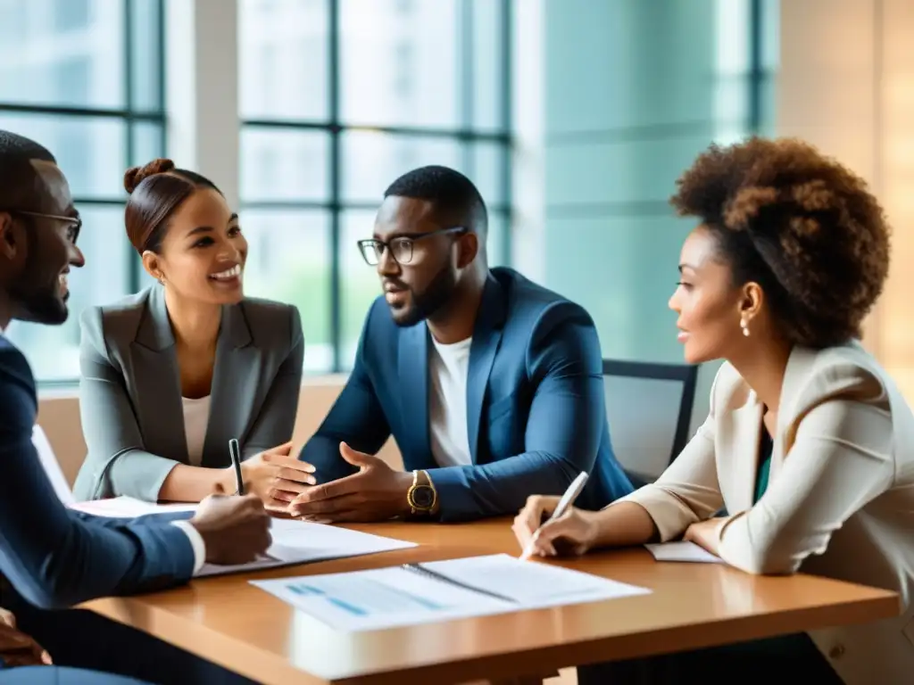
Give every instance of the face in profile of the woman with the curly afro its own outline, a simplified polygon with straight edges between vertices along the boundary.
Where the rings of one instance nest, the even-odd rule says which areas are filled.
[[[696,228],[682,248],[680,281],[669,306],[679,315],[679,342],[689,364],[728,358],[745,344],[740,322],[759,309],[758,286],[734,284],[718,252],[717,238],[706,227]]]

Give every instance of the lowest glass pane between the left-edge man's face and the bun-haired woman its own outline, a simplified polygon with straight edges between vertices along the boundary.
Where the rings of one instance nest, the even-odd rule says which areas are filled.
[[[9,338],[32,364],[39,381],[70,381],[80,377],[80,314],[91,305],[107,304],[129,291],[133,249],[119,206],[81,205],[80,248],[84,269],[69,273],[69,319],[62,326],[14,321]]]

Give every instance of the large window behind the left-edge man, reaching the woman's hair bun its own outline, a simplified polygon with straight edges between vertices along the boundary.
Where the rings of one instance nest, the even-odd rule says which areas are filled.
[[[164,149],[162,0],[0,0],[0,129],[54,153],[83,217],[70,318],[14,322],[39,381],[79,377],[79,314],[136,290],[122,177]]]

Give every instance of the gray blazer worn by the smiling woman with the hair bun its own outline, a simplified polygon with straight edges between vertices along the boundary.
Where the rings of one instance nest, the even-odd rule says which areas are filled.
[[[89,453],[74,494],[155,501],[175,464],[189,461],[162,286],[90,307],[80,326],[80,415]],[[228,467],[232,437],[242,458],[292,438],[303,355],[302,322],[291,305],[245,299],[223,308],[202,466]]]

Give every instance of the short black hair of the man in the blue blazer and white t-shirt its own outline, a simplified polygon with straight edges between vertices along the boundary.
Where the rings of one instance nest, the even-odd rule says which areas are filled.
[[[484,238],[488,213],[483,195],[473,181],[447,166],[421,166],[400,176],[384,191],[384,196],[428,200],[443,222],[461,226]]]

